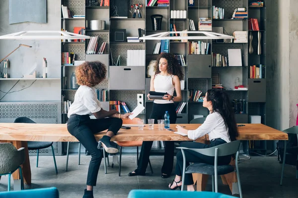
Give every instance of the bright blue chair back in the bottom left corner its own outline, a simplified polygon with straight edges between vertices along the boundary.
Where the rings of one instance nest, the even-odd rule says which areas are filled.
[[[59,198],[55,187],[0,193],[0,198]]]

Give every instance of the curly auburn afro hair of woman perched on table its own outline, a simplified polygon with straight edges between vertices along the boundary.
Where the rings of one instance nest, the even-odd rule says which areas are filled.
[[[99,61],[84,62],[75,68],[77,84],[94,87],[106,77],[106,66]]]

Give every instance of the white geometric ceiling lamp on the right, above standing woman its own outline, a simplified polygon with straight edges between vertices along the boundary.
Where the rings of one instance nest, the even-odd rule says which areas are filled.
[[[179,33],[180,35],[188,34],[200,34],[198,36],[170,36],[169,34],[175,35]],[[203,35],[204,36],[203,36]],[[176,31],[176,32],[162,32],[157,34],[152,34],[149,36],[140,37],[140,40],[205,40],[205,39],[233,39],[234,37],[206,31]]]

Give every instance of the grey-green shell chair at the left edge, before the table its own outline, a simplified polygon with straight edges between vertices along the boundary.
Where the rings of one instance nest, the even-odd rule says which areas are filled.
[[[17,169],[20,170],[21,189],[24,189],[23,174],[20,165],[24,163],[25,158],[24,148],[16,149],[10,143],[0,143],[0,176],[8,175],[8,191],[10,191],[10,176]]]

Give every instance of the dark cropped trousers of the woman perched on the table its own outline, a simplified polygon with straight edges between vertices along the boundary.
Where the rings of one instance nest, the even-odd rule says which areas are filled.
[[[89,115],[73,114],[67,122],[67,129],[91,154],[87,182],[88,186],[96,186],[97,174],[102,159],[102,152],[97,148],[95,133],[108,129],[115,135],[122,126],[122,119],[103,118],[90,119]]]

